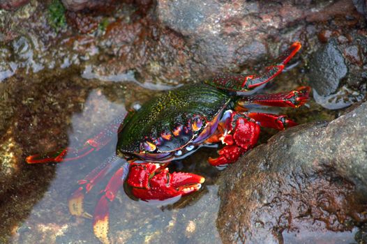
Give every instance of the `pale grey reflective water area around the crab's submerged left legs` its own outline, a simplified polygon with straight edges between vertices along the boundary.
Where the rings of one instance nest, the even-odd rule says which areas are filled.
[[[102,89],[93,89],[84,102],[82,112],[74,113],[70,118],[68,128],[68,146],[78,148],[91,135],[96,134],[107,125],[117,114],[125,114],[125,105],[121,102],[111,102],[103,94]],[[52,168],[52,181],[43,182],[47,191],[38,203],[33,206],[26,220],[16,228],[11,238],[12,243],[98,243],[93,234],[92,220],[75,218],[68,211],[68,197],[77,188],[77,180],[84,178],[115,150],[117,135],[109,146],[80,158],[76,161],[64,162]],[[54,149],[54,148],[52,148]],[[180,167],[181,170],[202,171],[209,168],[207,156],[210,151],[198,152],[195,158],[189,158]],[[45,167],[44,165],[32,165]],[[48,167],[51,167],[48,165]],[[52,170],[53,170],[52,169]],[[205,170],[204,170],[205,171]],[[216,169],[200,172],[210,178],[216,175]],[[42,178],[42,175],[37,176]],[[96,185],[85,199],[85,209],[93,213],[105,181]],[[209,179],[209,183],[212,182]],[[121,189],[117,199],[110,204],[110,237],[117,243],[142,242],[174,242],[188,241],[203,242],[210,240],[220,243],[216,231],[216,213],[219,208],[217,187],[207,185],[207,188],[193,197],[184,197],[175,207],[161,204],[147,204],[144,201],[134,201]],[[208,215],[210,217],[208,218]]]

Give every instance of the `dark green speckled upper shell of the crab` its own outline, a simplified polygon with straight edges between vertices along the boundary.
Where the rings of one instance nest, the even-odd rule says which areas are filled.
[[[163,132],[171,132],[179,125],[188,125],[200,115],[210,122],[230,102],[230,96],[208,84],[181,86],[146,102],[123,124],[119,132],[117,153],[141,153],[142,142],[152,142]],[[204,125],[202,128],[205,126]],[[179,135],[170,142],[174,151],[195,138]]]

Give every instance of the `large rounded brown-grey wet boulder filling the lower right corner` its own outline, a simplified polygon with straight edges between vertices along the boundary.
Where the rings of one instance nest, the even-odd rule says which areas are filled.
[[[330,123],[290,128],[227,169],[219,179],[222,241],[287,243],[293,235],[297,242],[310,236],[329,242],[334,231],[345,233],[344,240],[354,235],[367,220],[366,114],[364,102]]]

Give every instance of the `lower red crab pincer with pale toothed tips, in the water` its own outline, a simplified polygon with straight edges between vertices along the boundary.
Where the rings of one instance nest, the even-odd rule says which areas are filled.
[[[165,201],[173,197],[188,195],[200,190],[205,181],[204,177],[197,174],[184,172],[170,174],[167,168],[162,168],[158,164],[144,165],[131,167],[128,178],[128,184],[133,187],[133,195],[144,201]],[[156,165],[156,167],[151,167],[151,165]]]

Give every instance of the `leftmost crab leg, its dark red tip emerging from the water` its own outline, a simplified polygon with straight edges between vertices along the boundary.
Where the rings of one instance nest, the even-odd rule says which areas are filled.
[[[98,151],[103,146],[107,145],[111,139],[117,135],[121,122],[125,116],[119,116],[107,125],[98,135],[88,139],[82,148],[61,148],[47,153],[40,153],[30,155],[26,161],[29,164],[43,163],[43,162],[66,162],[70,160],[77,160],[93,151]]]

